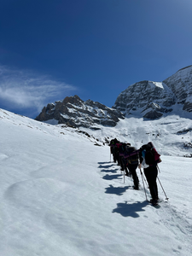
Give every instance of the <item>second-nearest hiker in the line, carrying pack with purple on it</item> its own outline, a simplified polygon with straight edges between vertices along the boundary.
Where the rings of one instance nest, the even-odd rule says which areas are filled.
[[[136,152],[136,154],[134,154]],[[137,177],[137,166],[138,166],[138,153],[137,149],[134,147],[131,147],[131,143],[128,143],[126,146],[126,154],[125,159],[127,160],[127,167],[128,170],[131,172],[132,178],[133,178],[133,189],[138,190],[139,189],[139,179]],[[131,156],[129,154],[132,154]]]

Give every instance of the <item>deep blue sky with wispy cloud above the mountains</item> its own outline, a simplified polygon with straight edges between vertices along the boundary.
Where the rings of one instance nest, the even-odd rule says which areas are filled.
[[[14,113],[73,95],[112,107],[129,85],[192,65],[191,0],[0,3],[0,108]]]

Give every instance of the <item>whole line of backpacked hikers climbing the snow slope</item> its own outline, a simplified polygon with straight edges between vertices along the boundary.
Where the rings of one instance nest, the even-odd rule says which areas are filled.
[[[113,161],[121,167],[121,171],[126,176],[132,177],[133,189],[139,189],[139,178],[137,177],[137,167],[143,168],[148,182],[148,188],[151,195],[150,202],[155,206],[158,204],[159,195],[156,183],[158,175],[157,164],[161,161],[160,154],[157,153],[153,143],[143,145],[137,149],[131,147],[131,143],[120,143],[116,138],[109,143],[110,154],[113,154]],[[141,172],[142,173],[142,172]]]

